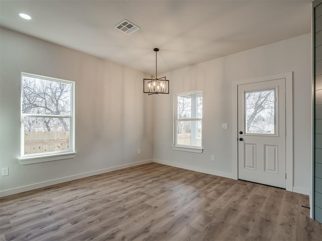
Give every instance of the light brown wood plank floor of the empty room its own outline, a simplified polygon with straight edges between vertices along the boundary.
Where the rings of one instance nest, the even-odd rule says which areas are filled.
[[[322,240],[308,197],[156,163],[0,199],[0,240]]]

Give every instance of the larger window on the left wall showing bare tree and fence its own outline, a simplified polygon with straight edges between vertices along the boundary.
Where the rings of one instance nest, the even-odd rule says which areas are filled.
[[[47,157],[29,162],[35,163],[74,154],[73,85],[72,81],[22,73],[20,160]]]

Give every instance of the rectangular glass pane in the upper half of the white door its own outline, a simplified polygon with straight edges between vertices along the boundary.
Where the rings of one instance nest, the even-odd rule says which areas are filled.
[[[275,90],[246,92],[246,133],[275,134]]]

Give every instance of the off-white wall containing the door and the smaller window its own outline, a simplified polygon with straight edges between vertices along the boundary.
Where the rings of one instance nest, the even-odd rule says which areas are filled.
[[[154,96],[153,159],[160,163],[234,177],[232,83],[293,71],[293,190],[311,189],[311,37],[298,36],[166,73],[170,96]],[[174,93],[203,91],[202,154],[174,151]],[[228,123],[229,129],[221,129]],[[214,154],[215,162],[210,161]]]

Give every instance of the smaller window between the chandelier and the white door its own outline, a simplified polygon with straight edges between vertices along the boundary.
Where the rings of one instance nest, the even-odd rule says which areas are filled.
[[[175,95],[174,150],[202,152],[202,91]]]

